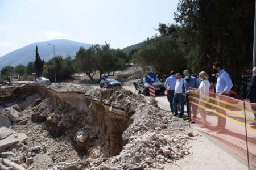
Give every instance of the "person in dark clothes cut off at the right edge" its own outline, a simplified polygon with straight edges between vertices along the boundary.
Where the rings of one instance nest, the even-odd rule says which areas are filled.
[[[253,103],[251,109],[256,111],[256,67],[253,68],[253,77],[251,78],[246,101]],[[256,120],[256,113],[254,113],[254,117],[254,120]]]

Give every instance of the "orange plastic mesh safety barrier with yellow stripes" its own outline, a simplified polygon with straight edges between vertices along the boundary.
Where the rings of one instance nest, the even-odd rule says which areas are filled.
[[[189,90],[191,119],[222,146],[256,168],[256,104]]]

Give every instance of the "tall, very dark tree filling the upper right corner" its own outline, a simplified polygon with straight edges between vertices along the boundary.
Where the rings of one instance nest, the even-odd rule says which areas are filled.
[[[180,1],[175,20],[181,25],[188,66],[210,70],[220,61],[236,82],[251,66],[255,2]]]

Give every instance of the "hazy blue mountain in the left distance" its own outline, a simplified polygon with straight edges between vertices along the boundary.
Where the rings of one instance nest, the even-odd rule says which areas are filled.
[[[60,55],[63,57],[67,57],[67,55],[72,57],[75,56],[76,52],[81,46],[83,46],[85,49],[88,49],[90,46],[92,46],[92,44],[85,44],[65,39],[36,42],[0,57],[0,70],[2,67],[9,65],[7,59],[10,61],[10,66],[14,67],[19,64],[27,66],[28,62],[35,61],[36,45],[38,45],[38,53],[41,59],[48,61],[53,57],[53,46],[48,45],[47,43],[55,45],[55,56]]]

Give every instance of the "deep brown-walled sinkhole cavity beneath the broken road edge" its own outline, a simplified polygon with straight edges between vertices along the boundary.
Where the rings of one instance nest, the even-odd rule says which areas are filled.
[[[8,92],[6,92],[8,93]],[[76,151],[93,155],[98,148],[101,156],[118,155],[125,142],[122,133],[129,126],[127,113],[121,108],[104,105],[80,92],[55,92],[46,87],[19,87],[2,95],[2,108],[18,103],[26,109],[33,104],[31,121],[46,122],[52,137],[68,135]]]

